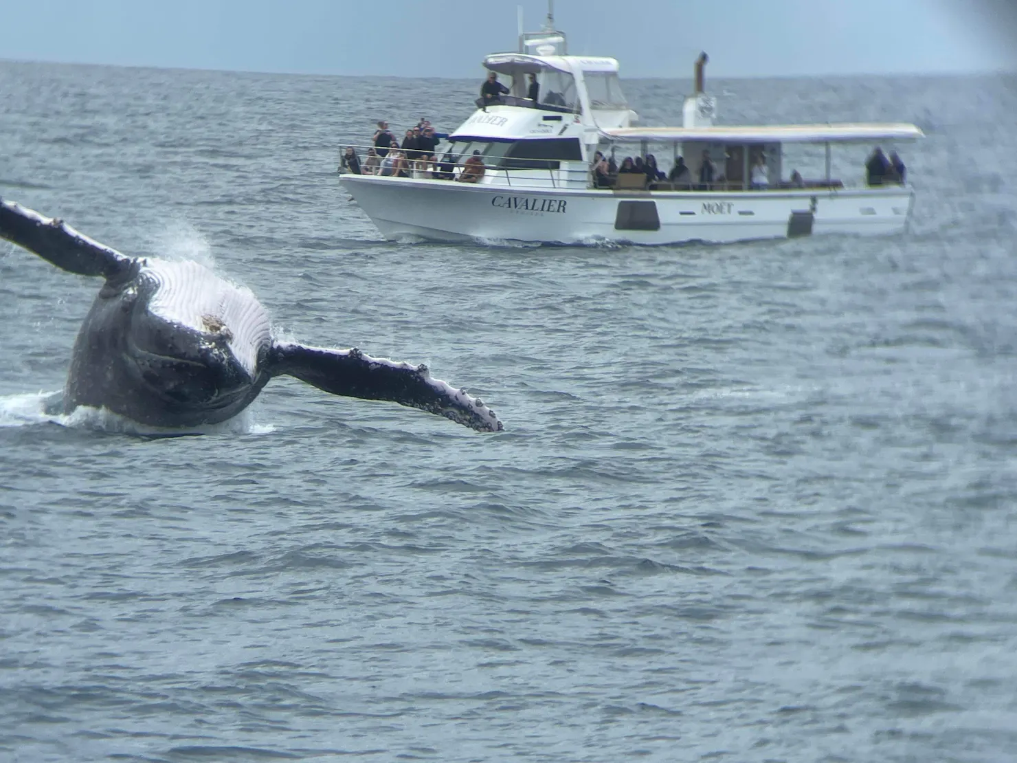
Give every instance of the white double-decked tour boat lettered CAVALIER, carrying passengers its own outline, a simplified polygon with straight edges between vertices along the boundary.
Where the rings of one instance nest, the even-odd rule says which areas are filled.
[[[435,163],[418,154],[402,171],[386,167],[393,174],[341,180],[390,239],[719,243],[905,228],[913,188],[892,169],[868,176],[860,157],[857,186],[846,187],[831,177],[831,148],[914,139],[920,129],[716,125],[716,101],[704,86],[706,61],[704,54],[696,63],[696,92],[685,99],[682,126],[638,127],[621,94],[618,62],[566,55],[564,35],[549,13],[542,32],[520,35],[519,52],[484,60],[489,72],[511,78],[507,93],[486,106],[478,99],[477,111],[437,148]],[[537,100],[527,97],[531,74]],[[805,179],[782,166],[789,143],[812,143],[817,157],[825,148],[825,174]],[[619,154],[646,156],[656,145],[667,146],[668,160],[680,155],[687,172],[672,181],[595,171],[597,152],[617,164]],[[357,148],[361,162],[367,148]],[[712,178],[701,174],[705,158]]]

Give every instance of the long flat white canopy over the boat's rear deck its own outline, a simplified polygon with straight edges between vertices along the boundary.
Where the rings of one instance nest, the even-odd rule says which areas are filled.
[[[601,130],[611,140],[655,140],[711,143],[850,143],[914,140],[924,137],[917,126],[888,124],[789,124],[712,127],[620,127]]]

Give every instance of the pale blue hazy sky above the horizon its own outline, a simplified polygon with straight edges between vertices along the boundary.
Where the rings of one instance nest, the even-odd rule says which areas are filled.
[[[546,0],[0,0],[0,58],[481,76]],[[557,0],[570,53],[629,77],[1017,70],[1017,0]]]

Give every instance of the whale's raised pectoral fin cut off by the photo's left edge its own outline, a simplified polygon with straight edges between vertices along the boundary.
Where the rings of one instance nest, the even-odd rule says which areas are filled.
[[[57,268],[80,276],[113,278],[132,257],[103,246],[60,220],[47,218],[14,201],[0,198],[0,237],[34,251]]]

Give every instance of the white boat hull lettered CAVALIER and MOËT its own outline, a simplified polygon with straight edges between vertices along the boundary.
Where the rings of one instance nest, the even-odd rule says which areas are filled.
[[[731,243],[828,233],[904,230],[908,187],[768,191],[611,191],[523,188],[344,175],[383,236],[436,241]]]

